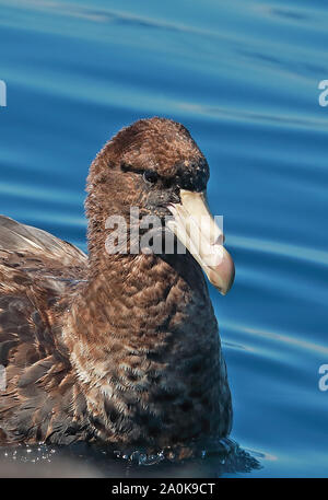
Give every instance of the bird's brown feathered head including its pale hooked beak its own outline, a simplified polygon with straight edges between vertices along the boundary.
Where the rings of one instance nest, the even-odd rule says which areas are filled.
[[[125,221],[117,234],[124,244],[119,231],[127,230],[130,248],[136,221],[140,228],[142,218],[149,217],[154,228],[155,218],[161,237],[168,228],[225,294],[234,280],[234,264],[207,205],[209,175],[204,155],[183,125],[155,117],[121,129],[97,154],[87,177],[91,254],[114,229],[110,221]]]

